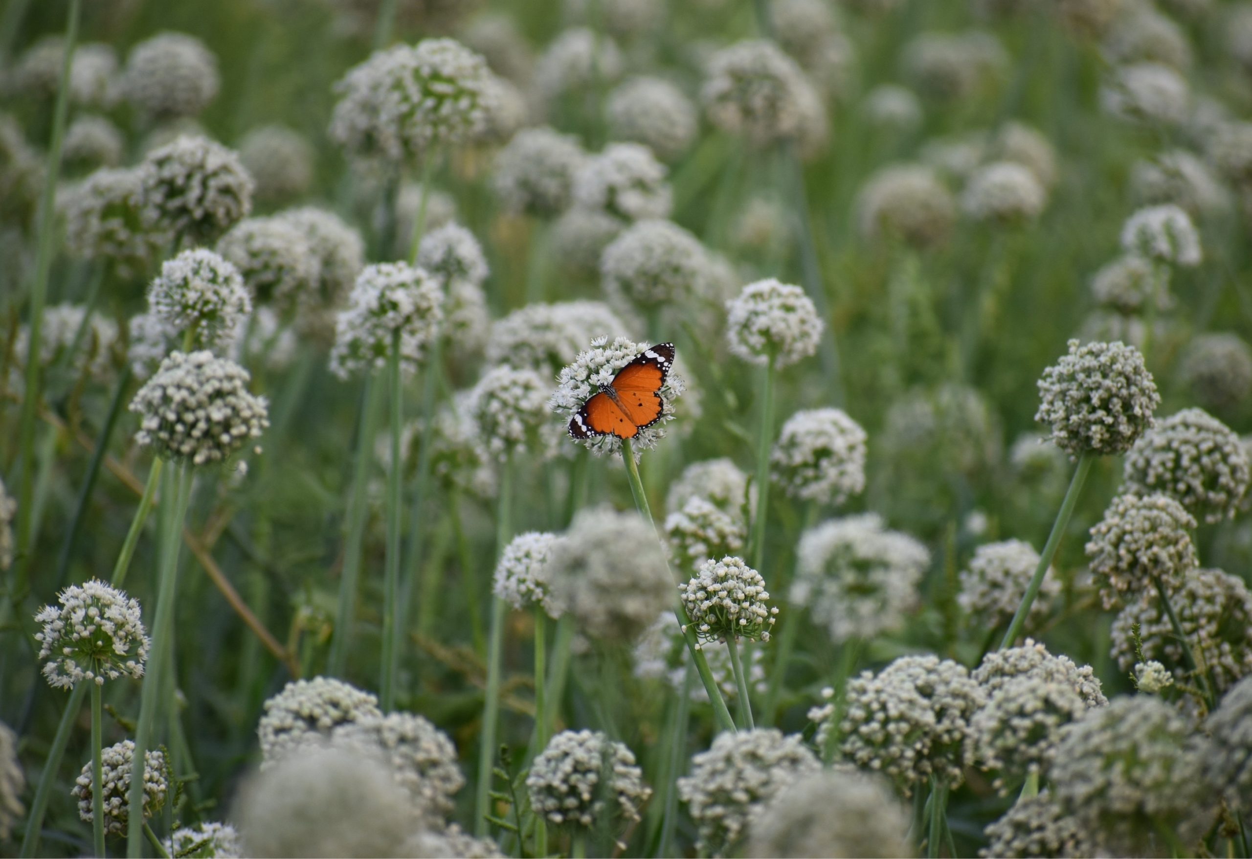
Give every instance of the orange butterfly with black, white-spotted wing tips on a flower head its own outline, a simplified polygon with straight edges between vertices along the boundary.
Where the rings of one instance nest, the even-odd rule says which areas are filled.
[[[570,436],[634,438],[640,430],[660,421],[665,411],[661,388],[672,364],[674,343],[644,349],[582,404],[570,421]]]

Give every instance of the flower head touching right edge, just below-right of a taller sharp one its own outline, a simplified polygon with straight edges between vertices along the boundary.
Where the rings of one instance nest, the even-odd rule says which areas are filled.
[[[1126,456],[1127,491],[1163,492],[1211,525],[1234,518],[1249,480],[1239,437],[1201,408],[1159,421]]]

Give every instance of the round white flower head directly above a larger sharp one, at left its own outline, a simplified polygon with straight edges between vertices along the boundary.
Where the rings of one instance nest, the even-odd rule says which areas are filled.
[[[148,307],[175,337],[192,332],[193,343],[222,347],[252,313],[252,298],[230,260],[195,248],[162,264],[148,287]]]

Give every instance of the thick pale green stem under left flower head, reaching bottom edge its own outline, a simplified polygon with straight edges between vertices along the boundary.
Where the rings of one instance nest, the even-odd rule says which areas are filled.
[[[178,556],[183,545],[183,520],[192,497],[192,466],[185,462],[172,463],[165,472],[165,503],[162,505],[162,546],[160,572],[156,590],[156,615],[151,626],[151,647],[144,674],[143,691],[139,696],[139,725],[135,730],[134,760],[145,760],[144,755],[154,746],[154,726],[156,709],[160,702],[162,682],[167,677],[167,662],[173,654],[174,606],[178,587]],[[131,779],[129,803],[129,826],[126,831],[126,854],[138,859],[143,853],[144,823],[144,780]]]

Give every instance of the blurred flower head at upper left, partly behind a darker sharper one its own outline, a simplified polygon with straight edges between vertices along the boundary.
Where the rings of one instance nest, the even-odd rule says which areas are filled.
[[[121,274],[143,272],[150,264],[162,237],[144,224],[141,175],[133,168],[101,169],[56,195],[70,254],[106,259]]]

